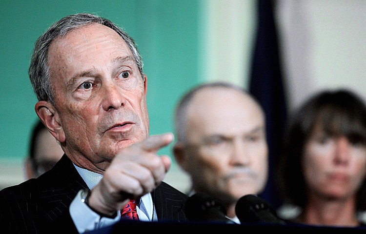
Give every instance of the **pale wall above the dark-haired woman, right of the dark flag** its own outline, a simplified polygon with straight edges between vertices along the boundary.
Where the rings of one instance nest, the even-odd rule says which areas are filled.
[[[321,89],[366,100],[366,1],[279,0],[277,9],[290,108]]]

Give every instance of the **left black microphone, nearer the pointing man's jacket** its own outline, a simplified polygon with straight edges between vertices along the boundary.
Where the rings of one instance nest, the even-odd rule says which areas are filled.
[[[214,221],[236,224],[225,216],[226,209],[218,199],[204,193],[190,196],[185,202],[184,213],[190,221]]]

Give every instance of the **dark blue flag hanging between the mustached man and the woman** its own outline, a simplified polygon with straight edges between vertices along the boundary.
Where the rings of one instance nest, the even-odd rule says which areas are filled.
[[[266,115],[269,151],[268,182],[261,196],[278,208],[281,203],[274,179],[287,117],[285,92],[279,58],[277,31],[271,0],[258,0],[258,28],[253,54],[249,92],[258,99]]]

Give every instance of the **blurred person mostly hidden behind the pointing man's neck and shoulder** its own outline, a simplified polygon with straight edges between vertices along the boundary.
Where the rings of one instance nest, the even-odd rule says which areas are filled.
[[[31,133],[29,156],[24,160],[25,179],[41,176],[50,170],[63,154],[60,143],[38,119]]]

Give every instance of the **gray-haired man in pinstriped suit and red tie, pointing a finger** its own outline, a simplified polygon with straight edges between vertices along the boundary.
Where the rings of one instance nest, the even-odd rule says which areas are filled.
[[[65,154],[0,192],[3,232],[83,233],[118,222],[130,200],[140,221],[186,220],[187,195],[163,182],[171,161],[157,155],[173,135],[149,136],[142,64],[134,40],[93,14],[41,35],[29,67],[35,111]]]

